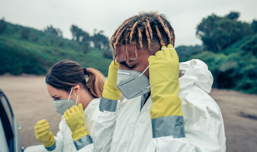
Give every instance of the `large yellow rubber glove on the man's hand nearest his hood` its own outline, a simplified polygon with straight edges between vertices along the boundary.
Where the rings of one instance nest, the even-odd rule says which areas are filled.
[[[171,49],[169,49],[171,48]],[[183,116],[179,91],[179,59],[172,45],[162,47],[148,58],[149,80],[153,104],[151,119],[164,116]]]

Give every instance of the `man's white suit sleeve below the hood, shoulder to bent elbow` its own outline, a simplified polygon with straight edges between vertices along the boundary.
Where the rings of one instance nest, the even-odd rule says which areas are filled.
[[[186,138],[153,138],[146,151],[226,151],[223,119],[215,101],[197,86],[189,86],[180,95],[185,97],[181,102]]]

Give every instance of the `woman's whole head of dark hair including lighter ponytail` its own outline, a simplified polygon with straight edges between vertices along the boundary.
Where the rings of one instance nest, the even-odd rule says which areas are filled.
[[[85,75],[88,75],[86,82]],[[46,76],[46,83],[56,89],[69,92],[72,86],[81,85],[94,97],[102,97],[105,78],[93,68],[84,70],[79,63],[63,60],[53,65]]]

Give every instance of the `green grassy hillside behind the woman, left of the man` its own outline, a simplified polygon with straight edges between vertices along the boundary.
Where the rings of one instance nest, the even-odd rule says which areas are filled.
[[[4,30],[0,25],[0,74],[45,75],[54,63],[68,59],[107,75],[111,59],[103,57],[103,50],[90,48],[83,53],[75,41],[7,22],[4,24]]]

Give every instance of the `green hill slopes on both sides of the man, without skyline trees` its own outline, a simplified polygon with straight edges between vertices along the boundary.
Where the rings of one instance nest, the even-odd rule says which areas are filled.
[[[203,60],[212,72],[215,88],[257,93],[257,34],[243,37],[219,53],[204,46],[180,46],[176,51],[180,61]],[[95,48],[84,53],[76,41],[0,20],[0,75],[45,75],[54,63],[68,59],[107,76],[112,59],[103,54]]]

